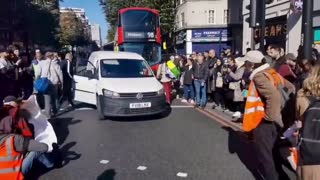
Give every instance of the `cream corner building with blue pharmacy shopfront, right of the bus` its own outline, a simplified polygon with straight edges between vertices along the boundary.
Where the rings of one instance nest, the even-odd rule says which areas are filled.
[[[178,54],[241,51],[242,1],[177,0],[175,30]]]

